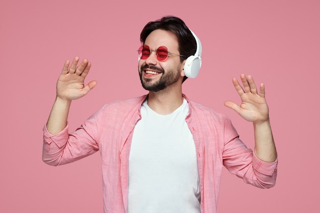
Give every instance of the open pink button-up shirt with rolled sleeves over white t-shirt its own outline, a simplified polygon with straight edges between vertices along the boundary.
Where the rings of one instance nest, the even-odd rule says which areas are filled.
[[[141,119],[140,107],[145,99],[146,96],[142,96],[105,104],[73,133],[68,133],[66,127],[52,135],[43,128],[45,163],[61,165],[100,151],[105,213],[126,212],[132,133]],[[223,165],[246,183],[261,188],[275,185],[278,160],[259,160],[242,143],[225,115],[187,101],[186,122],[196,146],[202,213],[216,212]]]

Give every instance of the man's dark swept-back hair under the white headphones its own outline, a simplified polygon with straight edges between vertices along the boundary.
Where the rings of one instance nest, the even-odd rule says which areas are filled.
[[[150,21],[143,28],[140,34],[140,41],[144,44],[148,35],[154,30],[166,30],[174,33],[178,38],[180,61],[184,61],[189,56],[192,56],[197,51],[197,42],[192,35],[185,22],[175,16],[165,16],[161,19]],[[184,77],[185,81],[187,77]],[[182,82],[183,82],[182,81]]]

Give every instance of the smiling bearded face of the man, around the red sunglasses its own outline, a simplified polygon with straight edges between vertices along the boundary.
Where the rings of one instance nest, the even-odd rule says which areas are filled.
[[[159,46],[166,46],[170,53],[179,54],[179,45],[174,33],[164,30],[152,31],[147,37],[145,45],[151,50]],[[168,55],[165,61],[158,61],[155,51],[147,59],[139,61],[139,75],[144,89],[157,92],[182,82],[184,72],[178,55]],[[181,80],[181,82],[179,81]]]

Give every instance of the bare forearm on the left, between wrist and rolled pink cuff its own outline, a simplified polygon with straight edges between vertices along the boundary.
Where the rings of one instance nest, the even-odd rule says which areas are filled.
[[[70,105],[71,100],[56,98],[47,122],[49,133],[56,134],[66,127]]]

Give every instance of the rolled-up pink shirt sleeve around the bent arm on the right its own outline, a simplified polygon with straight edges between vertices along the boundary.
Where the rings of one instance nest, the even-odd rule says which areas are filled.
[[[278,158],[274,162],[260,160],[251,149],[240,140],[238,133],[228,120],[225,125],[223,165],[245,183],[260,188],[270,188],[276,184]]]

